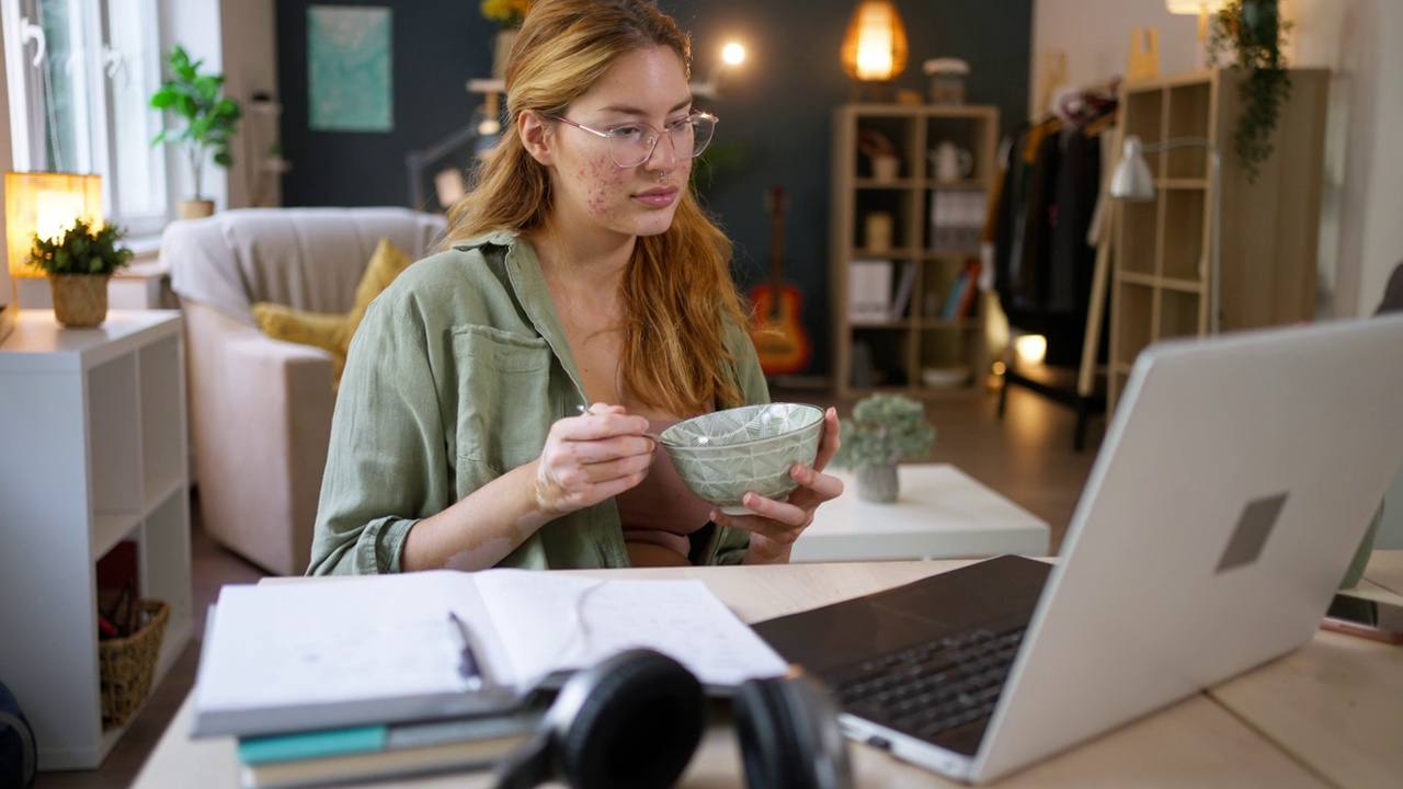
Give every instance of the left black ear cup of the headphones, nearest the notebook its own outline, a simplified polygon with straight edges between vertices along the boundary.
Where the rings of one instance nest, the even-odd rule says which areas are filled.
[[[702,741],[706,696],[680,663],[630,650],[591,670],[593,687],[558,726],[561,778],[574,789],[666,789]]]

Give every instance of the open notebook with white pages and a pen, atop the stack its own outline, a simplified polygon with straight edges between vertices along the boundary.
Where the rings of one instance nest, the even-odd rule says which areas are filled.
[[[196,737],[519,710],[636,647],[714,692],[787,670],[697,580],[498,569],[226,585],[206,629]]]

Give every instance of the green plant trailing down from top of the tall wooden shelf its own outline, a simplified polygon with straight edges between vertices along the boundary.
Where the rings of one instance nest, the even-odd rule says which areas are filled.
[[[1281,105],[1291,98],[1291,73],[1282,52],[1289,29],[1277,0],[1229,0],[1214,17],[1209,42],[1214,63],[1223,60],[1232,46],[1230,65],[1247,72],[1240,87],[1242,115],[1233,129],[1233,149],[1247,171],[1247,183],[1257,180],[1258,164],[1271,156],[1271,133],[1281,118]]]

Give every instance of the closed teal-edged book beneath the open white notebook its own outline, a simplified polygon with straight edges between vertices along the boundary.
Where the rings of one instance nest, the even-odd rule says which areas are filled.
[[[354,726],[243,737],[244,789],[292,789],[495,765],[540,727],[539,708],[512,715]]]

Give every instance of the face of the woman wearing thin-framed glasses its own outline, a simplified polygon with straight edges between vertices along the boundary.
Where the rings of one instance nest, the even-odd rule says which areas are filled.
[[[692,112],[692,93],[678,55],[664,46],[622,55],[561,117],[609,131],[627,124],[664,129]],[[644,129],[645,133],[647,129]],[[565,227],[598,227],[626,236],[655,236],[672,225],[687,188],[690,152],[676,152],[661,133],[652,154],[619,167],[609,140],[556,121],[549,132],[553,211]]]

